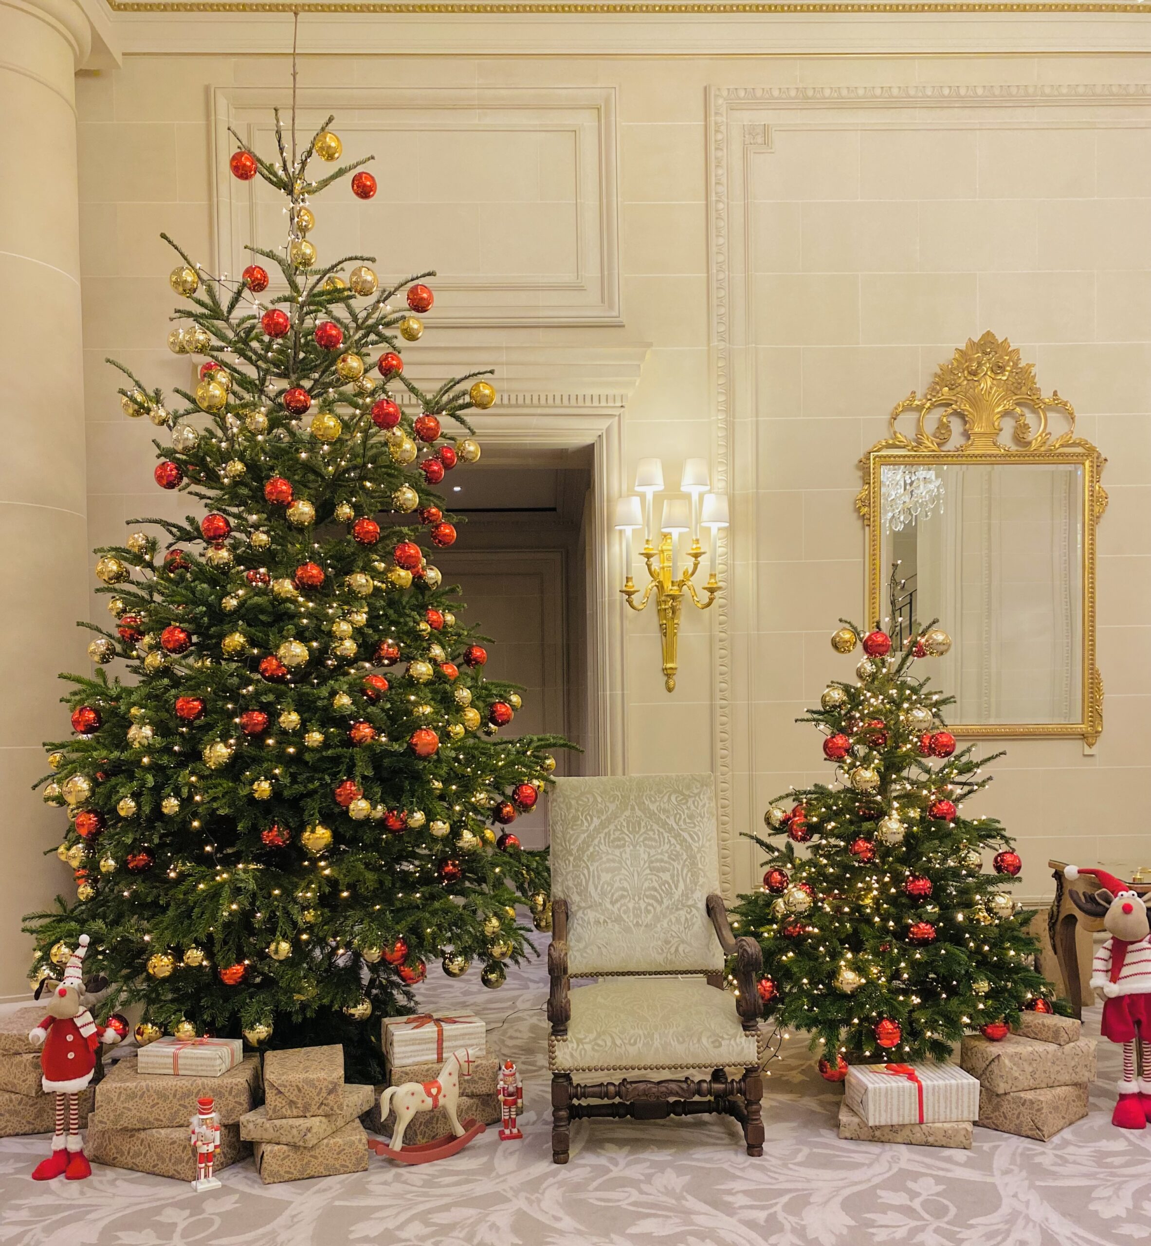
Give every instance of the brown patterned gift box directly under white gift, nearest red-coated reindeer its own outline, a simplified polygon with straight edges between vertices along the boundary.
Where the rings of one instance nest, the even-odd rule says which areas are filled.
[[[96,1088],[105,1129],[188,1129],[196,1100],[211,1095],[222,1125],[234,1125],[259,1100],[260,1060],[245,1055],[218,1078],[141,1073],[137,1060],[118,1060]]]

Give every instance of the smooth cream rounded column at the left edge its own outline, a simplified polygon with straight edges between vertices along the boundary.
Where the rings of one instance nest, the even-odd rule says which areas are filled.
[[[90,42],[75,0],[0,0],[0,1003],[27,998],[22,915],[71,892],[44,856],[64,812],[31,784],[69,733],[57,673],[90,669],[73,91]]]

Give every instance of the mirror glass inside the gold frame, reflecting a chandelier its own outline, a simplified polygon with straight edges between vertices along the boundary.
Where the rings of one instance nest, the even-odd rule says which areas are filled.
[[[953,644],[932,679],[955,698],[950,721],[1081,721],[1082,464],[916,457],[879,472],[893,638],[944,621]]]

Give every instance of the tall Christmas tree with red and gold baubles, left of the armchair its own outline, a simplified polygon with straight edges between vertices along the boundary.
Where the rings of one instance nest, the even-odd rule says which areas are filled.
[[[192,391],[169,405],[122,369],[125,412],[171,434],[156,483],[208,513],[132,521],[167,540],[96,551],[115,627],[82,624],[98,667],[64,677],[75,734],[44,780],[67,806],[77,900],[29,928],[34,977],[88,932],[87,964],[117,983],[105,1007],[142,1002],[142,1040],[243,1032],[362,1054],[430,959],[453,977],[477,961],[498,986],[524,952],[521,897],[546,928],[546,858],[508,824],[564,741],[496,738],[519,699],[483,678],[429,561],[456,540],[431,486],[480,457],[462,412],[495,390],[405,375],[432,292],[381,289],[369,255],[320,264],[311,201],[358,164],[313,177],[314,157],[341,156],[328,125],[299,157],[278,117],[277,135],[275,161],[242,146],[230,168],[283,193],[282,250],[250,248],[228,282],[172,244],[168,345],[204,356]],[[351,191],[371,198],[375,178]],[[117,658],[130,682],[100,669]]]

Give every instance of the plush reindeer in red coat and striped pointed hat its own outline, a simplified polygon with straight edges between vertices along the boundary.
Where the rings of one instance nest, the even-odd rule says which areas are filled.
[[[47,1181],[61,1172],[69,1181],[92,1175],[80,1134],[80,1093],[96,1072],[96,1049],[101,1040],[118,1043],[120,1035],[97,1025],[81,999],[86,989],[81,968],[87,949],[88,937],[81,934],[80,946],[69,957],[64,979],[57,983],[45,978],[36,991],[37,999],[41,992],[51,991],[47,1015],[27,1037],[37,1047],[44,1043],[41,1084],[47,1094],[56,1095],[56,1133],[52,1154],[36,1165],[34,1181]]]

